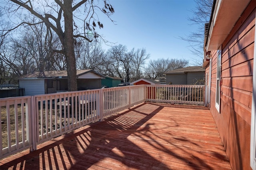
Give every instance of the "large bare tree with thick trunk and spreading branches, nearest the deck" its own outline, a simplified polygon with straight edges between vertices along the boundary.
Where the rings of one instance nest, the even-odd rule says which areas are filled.
[[[38,0],[36,2],[32,0],[6,0],[5,3],[5,9],[8,10],[8,14],[10,15],[15,12],[27,10],[38,18],[38,20],[33,22],[17,23],[16,27],[44,23],[49,36],[52,35],[52,32],[58,35],[62,48],[53,50],[54,52],[65,55],[68,73],[68,90],[76,91],[74,38],[80,37],[87,41],[92,41],[91,35],[98,37],[99,35],[95,28],[97,25],[99,28],[103,28],[103,24],[98,20],[96,12],[103,12],[109,18],[114,13],[114,8],[106,0],[102,3],[103,8],[100,8],[99,3],[93,0],[80,0],[78,2],[75,0]],[[8,29],[6,33],[12,31],[14,28]]]

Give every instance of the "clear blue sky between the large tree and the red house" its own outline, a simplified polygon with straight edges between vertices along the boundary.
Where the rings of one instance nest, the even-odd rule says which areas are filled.
[[[196,31],[188,17],[195,8],[193,0],[110,0],[115,13],[112,20],[102,21],[98,30],[105,39],[132,48],[145,48],[150,59],[191,59],[189,44],[179,39]],[[107,20],[107,19],[106,19]],[[108,46],[103,45],[104,49]]]

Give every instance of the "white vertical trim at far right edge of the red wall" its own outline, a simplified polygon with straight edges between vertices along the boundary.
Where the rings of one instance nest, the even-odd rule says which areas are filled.
[[[256,27],[256,25],[255,25]],[[256,170],[256,30],[254,37],[254,59],[252,78],[252,113],[251,113],[251,144],[250,144],[250,166]]]

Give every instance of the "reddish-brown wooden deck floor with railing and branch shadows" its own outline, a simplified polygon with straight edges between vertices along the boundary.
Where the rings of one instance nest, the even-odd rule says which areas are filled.
[[[209,110],[166,106],[136,106],[0,160],[0,170],[231,169]]]

